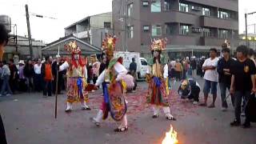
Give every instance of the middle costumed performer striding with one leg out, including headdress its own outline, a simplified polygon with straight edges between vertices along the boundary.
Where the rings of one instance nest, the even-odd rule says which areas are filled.
[[[122,58],[114,58],[116,38],[111,35],[106,35],[102,42],[102,49],[106,54],[106,69],[98,76],[95,86],[102,84],[104,97],[102,106],[95,118],[90,118],[96,126],[108,117],[110,112],[111,117],[116,122],[121,122],[114,131],[122,132],[128,130],[126,118],[126,79],[127,70],[122,66]]]

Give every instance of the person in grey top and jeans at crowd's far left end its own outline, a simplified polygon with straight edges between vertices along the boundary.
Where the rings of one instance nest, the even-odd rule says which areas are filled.
[[[12,94],[12,91],[10,90],[10,84],[9,84],[9,78],[10,78],[10,68],[7,66],[6,61],[2,61],[2,89],[0,96],[5,94],[5,91],[7,90],[6,96],[10,96]]]

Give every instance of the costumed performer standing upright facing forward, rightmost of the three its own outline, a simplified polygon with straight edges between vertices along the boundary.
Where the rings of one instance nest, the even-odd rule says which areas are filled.
[[[163,57],[162,51],[166,49],[166,39],[154,39],[150,50],[154,55],[151,60],[152,66],[150,70],[146,71],[146,82],[149,83],[149,90],[147,94],[147,102],[153,105],[154,115],[152,118],[158,118],[159,109],[162,106],[162,110],[166,114],[168,120],[176,120],[170,114],[170,107],[168,102],[168,87],[166,87],[166,78],[168,77],[168,69],[164,70],[162,65]],[[168,85],[167,85],[168,86]]]

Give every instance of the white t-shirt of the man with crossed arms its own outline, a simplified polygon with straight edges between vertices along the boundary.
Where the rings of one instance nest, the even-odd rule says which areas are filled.
[[[216,67],[215,70],[206,70],[204,79],[212,82],[218,82],[218,72],[217,72],[217,65],[218,65],[218,58],[207,58],[206,61],[203,63],[202,67],[204,66],[214,66]]]

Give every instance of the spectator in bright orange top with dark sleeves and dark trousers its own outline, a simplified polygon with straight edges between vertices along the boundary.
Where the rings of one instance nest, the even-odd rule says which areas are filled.
[[[48,97],[52,96],[52,81],[54,80],[53,73],[52,73],[52,57],[46,57],[46,62],[42,64],[41,72],[42,78],[44,80],[44,87],[43,87],[43,95],[46,97],[48,93]]]

